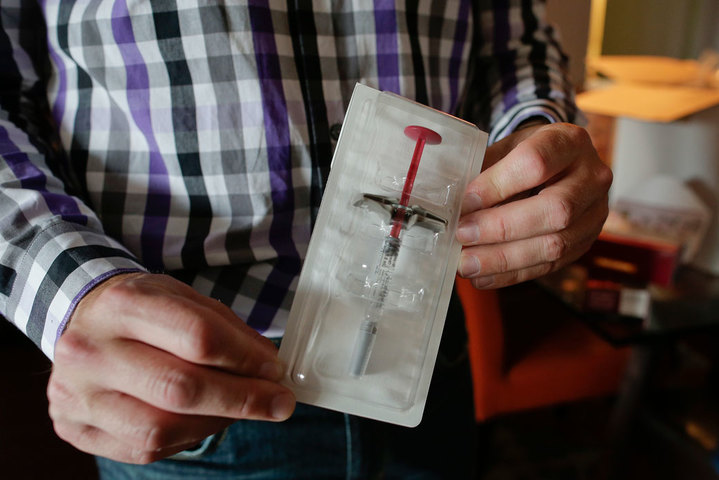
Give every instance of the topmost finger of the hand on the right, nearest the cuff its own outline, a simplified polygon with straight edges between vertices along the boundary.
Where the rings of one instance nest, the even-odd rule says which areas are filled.
[[[580,127],[538,129],[469,184],[462,213],[492,207],[549,181],[584,153],[586,145],[591,141]]]

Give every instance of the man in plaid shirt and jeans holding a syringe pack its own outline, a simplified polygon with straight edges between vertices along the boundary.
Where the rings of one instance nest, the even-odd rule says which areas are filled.
[[[560,123],[575,113],[542,5],[188,3],[1,7],[0,313],[54,360],[56,432],[104,478],[470,475],[466,362],[435,372],[419,429],[392,429],[293,415],[268,338],[356,82],[490,131],[457,232],[477,288],[588,248],[611,174]]]

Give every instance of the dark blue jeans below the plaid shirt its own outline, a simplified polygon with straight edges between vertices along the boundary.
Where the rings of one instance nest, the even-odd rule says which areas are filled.
[[[197,449],[149,465],[97,458],[103,480],[472,479],[477,455],[458,302],[442,336],[422,423],[405,428],[298,404],[282,423],[243,420]]]

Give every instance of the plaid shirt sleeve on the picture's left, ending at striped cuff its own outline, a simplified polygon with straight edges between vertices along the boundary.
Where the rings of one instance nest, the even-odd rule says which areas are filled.
[[[46,96],[36,2],[0,7],[0,315],[53,358],[82,296],[144,267],[78,195]]]

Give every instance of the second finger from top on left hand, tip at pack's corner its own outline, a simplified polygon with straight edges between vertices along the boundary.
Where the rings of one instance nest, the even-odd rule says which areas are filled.
[[[103,345],[102,352],[77,332],[61,349],[66,370],[75,376],[93,365],[92,378],[97,387],[116,390],[169,412],[282,421],[295,406],[287,388],[267,380],[240,377],[218,369],[186,362],[149,345],[114,341]],[[58,347],[60,344],[58,343]],[[56,353],[57,355],[57,353]]]

